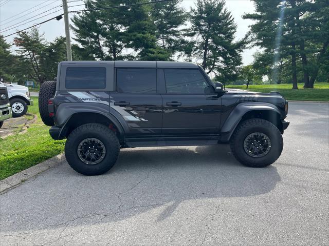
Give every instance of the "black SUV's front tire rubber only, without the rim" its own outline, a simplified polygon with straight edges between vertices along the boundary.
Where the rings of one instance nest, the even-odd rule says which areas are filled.
[[[271,141],[269,152],[259,158],[252,157],[244,150],[245,138],[254,132],[261,132],[267,135]],[[265,119],[247,119],[236,127],[231,139],[230,147],[233,155],[243,165],[253,168],[262,168],[271,165],[281,155],[283,149],[283,139],[279,129]]]

